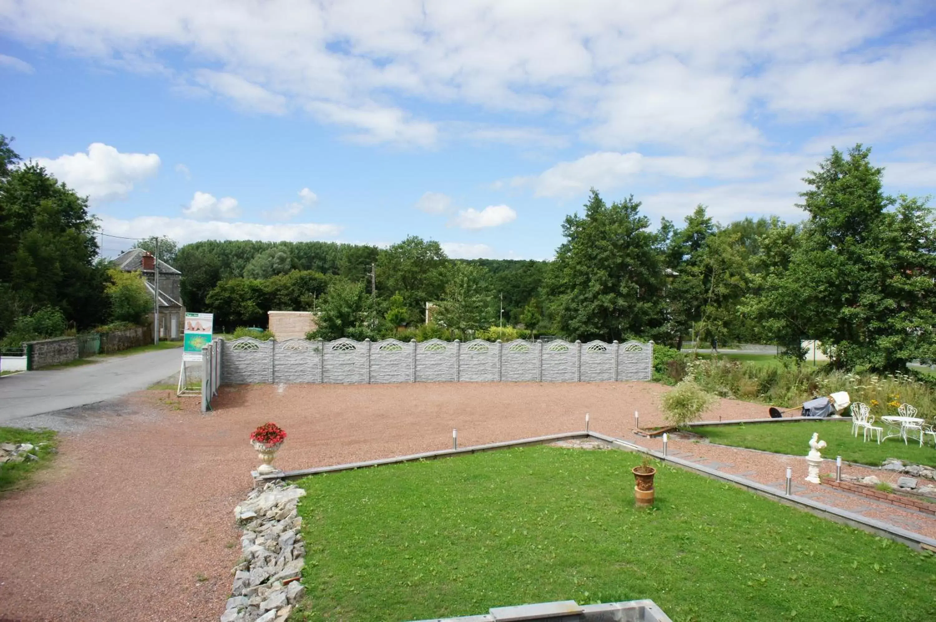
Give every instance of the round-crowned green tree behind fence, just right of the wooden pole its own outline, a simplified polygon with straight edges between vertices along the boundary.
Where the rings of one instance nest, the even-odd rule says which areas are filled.
[[[426,302],[442,296],[447,264],[446,253],[438,242],[410,236],[377,258],[377,292],[399,294],[409,318],[418,321]]]

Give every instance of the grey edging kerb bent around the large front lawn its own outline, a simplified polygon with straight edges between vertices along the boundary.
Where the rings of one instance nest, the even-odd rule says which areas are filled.
[[[814,417],[800,417],[806,419],[814,419]],[[382,465],[388,464],[398,464],[401,462],[414,462],[417,460],[430,460],[440,457],[448,456],[461,456],[466,454],[475,454],[477,452],[487,452],[497,449],[508,449],[511,447],[525,447],[530,445],[541,445],[548,442],[557,442],[557,441],[572,441],[577,439],[595,439],[598,441],[605,441],[610,444],[612,447],[619,447],[627,451],[633,451],[640,454],[647,454],[648,456],[653,456],[654,458],[668,462],[670,464],[676,465],[682,469],[692,470],[701,475],[705,475],[711,479],[721,480],[729,484],[737,485],[741,488],[746,488],[751,492],[761,495],[762,497],[767,497],[768,499],[774,499],[783,503],[785,505],[790,505],[793,507],[798,507],[807,512],[815,514],[817,516],[822,516],[829,520],[833,520],[837,523],[848,525],[850,527],[859,528],[864,531],[868,531],[878,536],[883,536],[889,538],[895,542],[901,542],[914,548],[916,550],[929,550],[936,552],[936,540],[928,538],[922,534],[914,533],[913,531],[908,531],[907,529],[901,529],[893,525],[888,525],[873,518],[868,518],[860,514],[854,514],[851,512],[846,512],[845,510],[840,510],[839,508],[834,508],[825,503],[820,503],[812,499],[805,497],[797,497],[796,495],[790,495],[789,497],[783,494],[779,490],[769,487],[768,485],[763,485],[759,482],[754,482],[744,477],[739,477],[738,475],[732,475],[730,473],[724,473],[720,470],[709,469],[700,464],[695,464],[688,460],[683,460],[676,456],[663,456],[662,452],[657,452],[646,447],[641,447],[636,443],[623,441],[622,439],[617,439],[615,437],[607,436],[601,434],[600,432],[592,431],[580,431],[580,432],[568,432],[565,434],[550,434],[548,436],[537,436],[530,439],[520,439],[519,441],[504,441],[504,442],[492,442],[485,445],[474,445],[471,447],[463,447],[461,449],[446,449],[437,452],[425,452],[422,454],[413,454],[411,456],[400,456],[393,458],[383,458],[379,460],[366,460],[364,462],[352,462],[348,464],[334,465],[330,467],[317,467],[314,469],[300,469],[300,470],[287,470],[280,473],[271,473],[269,475],[258,475],[256,471],[252,474],[254,476],[255,485],[263,485],[266,482],[274,482],[276,480],[292,480],[298,479],[300,477],[306,477],[309,475],[318,475],[322,473],[333,473],[343,470],[355,470],[355,469],[365,469],[368,467],[379,467]],[[798,456],[797,456],[798,457]]]

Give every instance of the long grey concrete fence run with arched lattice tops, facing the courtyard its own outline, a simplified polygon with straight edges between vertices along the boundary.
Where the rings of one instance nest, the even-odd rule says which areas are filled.
[[[575,383],[650,380],[653,342],[260,341],[221,344],[221,382]]]

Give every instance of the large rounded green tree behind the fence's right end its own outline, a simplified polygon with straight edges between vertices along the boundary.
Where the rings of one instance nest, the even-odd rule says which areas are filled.
[[[639,208],[633,196],[607,205],[592,189],[585,215],[565,218],[547,288],[569,338],[622,340],[663,324],[664,268]]]

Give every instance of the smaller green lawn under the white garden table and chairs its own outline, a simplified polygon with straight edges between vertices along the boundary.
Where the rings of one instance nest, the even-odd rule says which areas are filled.
[[[874,425],[878,426],[878,423],[875,422]],[[789,421],[747,426],[743,424],[704,426],[693,427],[692,431],[708,437],[709,441],[722,445],[794,456],[806,456],[810,451],[809,443],[812,432],[819,432],[819,440],[826,441],[828,445],[822,452],[826,457],[841,456],[842,460],[873,467],[880,467],[885,458],[896,457],[936,467],[936,448],[932,446],[932,441],[929,445],[922,447],[919,446],[919,441],[910,441],[905,445],[897,438],[882,441],[880,445],[877,441],[865,442],[860,432],[858,438],[852,436],[851,419],[816,419],[815,421]]]

